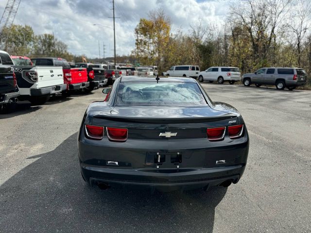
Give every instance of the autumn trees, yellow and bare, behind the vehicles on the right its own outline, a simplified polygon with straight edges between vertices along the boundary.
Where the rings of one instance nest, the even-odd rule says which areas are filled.
[[[230,5],[223,25],[199,21],[189,32],[171,32],[170,17],[158,9],[135,28],[132,56],[140,65],[302,67],[311,73],[311,1],[241,0]]]

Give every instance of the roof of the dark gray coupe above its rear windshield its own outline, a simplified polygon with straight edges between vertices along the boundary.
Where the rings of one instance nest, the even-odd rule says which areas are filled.
[[[123,76],[121,77],[121,83],[130,83],[130,82],[156,82],[155,77],[147,76]],[[176,83],[196,83],[192,78],[186,77],[160,77],[159,82],[176,82]]]

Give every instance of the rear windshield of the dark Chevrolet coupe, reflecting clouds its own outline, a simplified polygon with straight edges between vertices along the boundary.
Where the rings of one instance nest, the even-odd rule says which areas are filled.
[[[120,83],[118,106],[205,106],[196,83]]]

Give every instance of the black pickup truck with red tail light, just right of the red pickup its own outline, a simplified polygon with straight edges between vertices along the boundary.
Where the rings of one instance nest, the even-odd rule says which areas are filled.
[[[89,81],[89,91],[94,90],[94,88],[99,86],[105,86],[108,82],[105,79],[105,69],[94,65],[93,63],[79,62],[75,64],[75,67],[83,67],[87,69],[87,78]]]

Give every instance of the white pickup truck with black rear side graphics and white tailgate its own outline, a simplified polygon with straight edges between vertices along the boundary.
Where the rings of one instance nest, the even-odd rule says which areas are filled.
[[[0,50],[0,64],[13,67],[19,100],[29,100],[33,104],[43,104],[52,95],[65,91],[63,67],[14,66],[10,55]]]

